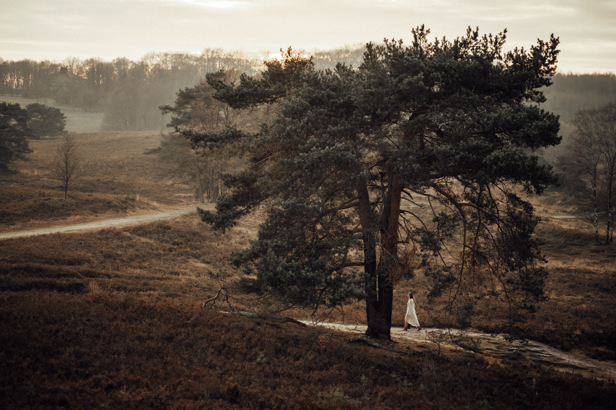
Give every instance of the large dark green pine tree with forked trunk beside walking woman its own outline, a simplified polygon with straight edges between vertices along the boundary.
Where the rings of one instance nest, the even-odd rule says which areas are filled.
[[[257,133],[184,132],[247,157],[203,221],[226,229],[267,210],[256,242],[232,256],[237,290],[283,308],[365,299],[367,335],[389,339],[394,285],[419,269],[458,324],[492,298],[514,331],[518,309],[543,298],[538,218],[517,192],[555,181],[532,151],[560,141],[558,118],[536,105],[559,50],[551,37],[504,53],[505,33],[429,42],[421,26],[408,47],[368,44],[359,68],[315,71],[288,50],[234,84],[209,75],[217,100],[276,113]]]

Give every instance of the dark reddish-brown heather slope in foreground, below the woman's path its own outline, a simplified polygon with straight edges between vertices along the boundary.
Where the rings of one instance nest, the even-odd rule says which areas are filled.
[[[6,409],[562,409],[614,385],[524,361],[399,355],[347,335],[126,292],[0,293]]]

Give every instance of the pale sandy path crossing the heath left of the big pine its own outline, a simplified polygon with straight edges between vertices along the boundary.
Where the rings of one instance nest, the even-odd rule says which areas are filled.
[[[109,227],[120,227],[120,226],[128,226],[134,224],[142,224],[146,222],[156,221],[158,219],[170,219],[175,218],[180,215],[187,215],[189,213],[196,212],[196,205],[191,206],[190,208],[182,208],[164,212],[150,213],[146,215],[136,215],[136,216],[127,216],[126,218],[113,218],[113,219],[103,219],[102,221],[94,221],[83,224],[75,224],[75,225],[67,225],[67,226],[54,226],[51,228],[43,228],[43,229],[33,229],[30,231],[18,231],[18,232],[10,232],[7,234],[0,234],[0,239],[10,239],[10,238],[18,238],[25,236],[34,236],[34,235],[46,235],[46,234],[59,234],[66,232],[78,232],[78,231],[92,231],[98,229],[105,229]],[[203,209],[213,209],[213,204],[208,204],[205,207],[203,204],[200,206]]]

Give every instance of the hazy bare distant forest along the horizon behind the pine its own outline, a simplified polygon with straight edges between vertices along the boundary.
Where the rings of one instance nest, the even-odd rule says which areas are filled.
[[[342,47],[306,52],[315,68],[334,68],[338,61],[358,66],[363,47]],[[71,82],[57,81],[61,67],[75,74]],[[172,104],[176,93],[193,87],[206,73],[235,68],[249,75],[262,69],[262,60],[240,52],[205,49],[189,53],[148,53],[139,61],[116,58],[68,57],[51,61],[9,61],[0,58],[0,94],[30,98],[53,98],[86,111],[103,111],[105,130],[164,130],[169,122],[159,106]],[[541,107],[570,122],[582,108],[597,108],[616,100],[616,76],[607,74],[556,74],[554,85],[545,89],[547,101]],[[566,137],[566,127],[563,129]]]

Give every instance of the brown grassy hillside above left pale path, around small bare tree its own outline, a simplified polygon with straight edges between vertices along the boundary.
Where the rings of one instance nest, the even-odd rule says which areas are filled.
[[[0,229],[39,227],[37,222],[46,222],[48,226],[50,221],[80,216],[87,220],[112,218],[125,211],[197,204],[192,187],[164,187],[156,180],[158,160],[143,152],[158,146],[160,133],[99,132],[74,136],[83,160],[79,178],[68,191],[70,198],[62,200],[60,181],[51,179],[49,174],[60,137],[30,141],[34,152],[29,160],[12,164],[19,173],[1,175]]]

